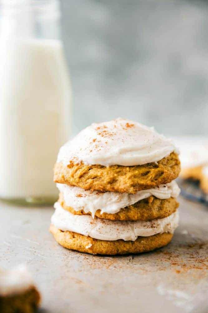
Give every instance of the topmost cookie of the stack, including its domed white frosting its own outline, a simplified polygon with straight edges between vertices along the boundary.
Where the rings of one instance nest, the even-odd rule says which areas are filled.
[[[60,148],[54,181],[100,191],[136,193],[180,172],[177,150],[153,128],[123,119],[92,124]]]

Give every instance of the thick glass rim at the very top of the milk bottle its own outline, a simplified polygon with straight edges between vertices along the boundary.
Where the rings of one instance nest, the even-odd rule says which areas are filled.
[[[60,18],[59,0],[0,0],[0,15],[15,15],[22,12],[48,18]]]

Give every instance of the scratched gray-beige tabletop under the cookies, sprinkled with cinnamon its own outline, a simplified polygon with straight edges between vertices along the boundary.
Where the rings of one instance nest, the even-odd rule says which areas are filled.
[[[26,263],[40,312],[208,312],[208,212],[180,198],[180,227],[156,252],[101,257],[69,251],[48,232],[52,208],[0,203],[0,267]]]

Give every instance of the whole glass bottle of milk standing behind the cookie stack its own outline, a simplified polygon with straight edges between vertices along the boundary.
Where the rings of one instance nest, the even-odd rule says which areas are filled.
[[[59,2],[4,0],[0,18],[0,199],[57,198],[53,167],[70,135]]]

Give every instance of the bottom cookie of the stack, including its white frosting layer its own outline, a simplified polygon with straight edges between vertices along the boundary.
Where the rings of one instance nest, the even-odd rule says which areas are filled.
[[[50,231],[68,249],[92,254],[127,254],[160,248],[172,239],[178,212],[152,221],[111,221],[74,215],[55,204]]]

